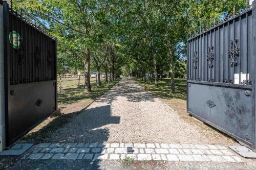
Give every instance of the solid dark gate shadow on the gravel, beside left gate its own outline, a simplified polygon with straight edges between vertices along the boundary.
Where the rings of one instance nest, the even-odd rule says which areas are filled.
[[[62,114],[48,125],[26,135],[26,142],[100,142],[108,140],[108,124],[119,124],[120,116],[111,116],[111,105],[87,109],[81,113]],[[72,124],[72,125],[71,125]]]

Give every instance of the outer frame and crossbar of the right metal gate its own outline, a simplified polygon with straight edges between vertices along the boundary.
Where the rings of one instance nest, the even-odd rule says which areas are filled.
[[[252,2],[252,7],[251,7],[251,11],[252,11],[252,41],[253,41],[253,52],[252,52],[252,60],[254,59],[254,63],[256,64],[256,2]],[[246,11],[247,12],[247,11]],[[243,13],[242,13],[243,14]],[[240,14],[240,15],[242,15]],[[232,18],[235,19],[237,17],[239,17],[240,15]],[[231,20],[232,20],[231,19]],[[188,38],[187,41],[194,39],[202,34],[205,34],[209,31],[211,31],[212,29],[215,29],[217,27],[219,27],[220,25],[224,25],[224,23],[229,22],[230,20],[228,19],[227,21],[221,22],[219,25],[214,26],[206,31],[204,31],[203,33],[200,33],[196,36],[190,37]],[[247,47],[248,48],[248,47]],[[190,61],[190,57],[188,54],[189,51],[189,47],[187,45],[187,63],[191,63]],[[252,72],[253,74],[250,75],[250,80],[251,80],[251,88],[248,85],[237,85],[237,84],[226,84],[226,83],[222,83],[222,82],[214,82],[214,84],[210,83],[210,82],[206,82],[206,81],[196,81],[196,80],[189,80],[188,75],[189,75],[189,64],[187,64],[187,113],[191,116],[196,117],[197,119],[201,120],[202,122],[220,130],[221,132],[231,136],[232,138],[238,140],[239,142],[242,142],[243,144],[245,144],[248,148],[251,148],[254,152],[256,152],[256,95],[255,95],[255,91],[256,91],[256,81],[255,81],[255,75],[256,75],[256,66],[253,65],[252,70],[250,72]],[[249,71],[247,72],[249,73]],[[193,83],[193,84],[201,84],[201,85],[208,85],[208,86],[218,86],[218,87],[226,87],[226,88],[238,88],[238,89],[250,89],[251,90],[251,98],[252,98],[252,112],[251,112],[251,144],[249,144],[249,142],[244,141],[243,139],[241,139],[240,137],[233,135],[232,133],[228,132],[227,130],[209,122],[208,120],[190,112],[188,110],[188,90],[189,90],[189,83]]]

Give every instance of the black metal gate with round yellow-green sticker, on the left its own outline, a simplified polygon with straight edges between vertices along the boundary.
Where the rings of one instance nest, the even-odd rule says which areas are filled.
[[[57,109],[56,41],[3,5],[9,146]]]

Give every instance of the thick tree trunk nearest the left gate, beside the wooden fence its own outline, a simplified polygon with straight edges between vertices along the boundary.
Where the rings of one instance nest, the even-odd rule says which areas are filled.
[[[91,89],[91,82],[90,82],[90,49],[86,49],[86,56],[83,60],[84,64],[84,91],[89,92],[92,91]]]

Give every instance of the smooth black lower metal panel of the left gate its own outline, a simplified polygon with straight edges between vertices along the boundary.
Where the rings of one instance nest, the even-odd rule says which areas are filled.
[[[33,128],[55,111],[55,82],[11,86],[9,99],[9,143]]]

